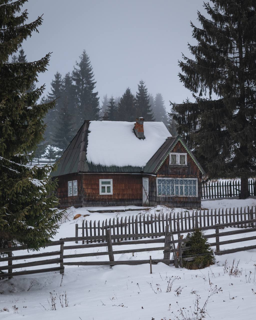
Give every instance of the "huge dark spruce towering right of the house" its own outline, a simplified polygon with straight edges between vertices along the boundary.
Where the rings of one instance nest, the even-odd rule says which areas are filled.
[[[246,198],[248,178],[256,174],[256,3],[212,3],[204,3],[210,18],[198,12],[201,28],[191,22],[194,59],[179,61],[180,81],[196,102],[174,104],[173,118],[208,178],[241,178],[240,198]]]

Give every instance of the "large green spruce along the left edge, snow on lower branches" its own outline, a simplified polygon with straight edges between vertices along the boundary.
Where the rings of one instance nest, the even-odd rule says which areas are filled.
[[[27,10],[19,15],[25,2],[0,0],[0,245],[18,241],[37,249],[56,234],[62,213],[53,209],[58,199],[50,195],[56,187],[48,177],[52,167],[27,165],[42,140],[43,117],[54,106],[36,105],[44,86],[27,90],[46,70],[50,55],[36,62],[6,63],[42,24],[42,17],[25,24]]]

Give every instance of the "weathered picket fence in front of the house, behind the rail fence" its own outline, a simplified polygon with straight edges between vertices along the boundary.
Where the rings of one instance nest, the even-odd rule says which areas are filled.
[[[171,230],[177,231],[177,221],[180,221],[180,228],[182,231],[188,231],[194,228],[211,227],[216,224],[228,222],[238,222],[235,225],[237,228],[247,228],[249,226],[248,223],[242,223],[241,221],[256,218],[255,211],[255,207],[240,207],[215,210],[196,210],[192,213],[184,211],[180,213],[173,213],[172,216],[168,216],[167,213],[166,215],[163,213],[159,213],[158,215],[148,215],[145,213],[144,215],[140,214],[135,217],[129,216],[124,218],[121,217],[120,219],[118,217],[116,219],[106,219],[102,222],[96,222],[96,220],[94,222],[91,220],[88,222],[87,220],[83,220],[81,227],[78,226],[78,223],[75,225],[75,238],[77,238],[76,243],[78,243],[79,230],[82,230],[82,237],[92,237],[104,236],[104,233],[106,233],[106,230],[109,228],[111,229],[112,235],[117,235],[116,238],[113,238],[114,242],[131,239],[136,240],[134,236],[131,236],[132,234],[161,233],[164,232],[167,225],[170,225]],[[154,238],[154,236],[150,237]],[[141,238],[142,237],[140,236],[140,239]],[[90,242],[92,243],[92,241],[93,240],[91,239]],[[100,242],[99,239],[97,241]],[[104,241],[103,238],[101,238],[101,241]],[[94,242],[96,242],[96,239],[94,239]],[[89,240],[86,240],[86,243],[88,244]]]

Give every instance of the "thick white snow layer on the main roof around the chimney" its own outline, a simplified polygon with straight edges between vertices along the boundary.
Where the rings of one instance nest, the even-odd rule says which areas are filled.
[[[134,122],[90,121],[87,162],[103,166],[144,167],[171,134],[163,122],[144,122],[145,139],[133,132]]]

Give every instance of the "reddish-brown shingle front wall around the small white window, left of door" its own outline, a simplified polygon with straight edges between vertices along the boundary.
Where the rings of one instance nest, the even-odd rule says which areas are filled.
[[[142,204],[140,174],[82,174],[85,206]],[[100,195],[100,179],[113,180],[113,195]]]

